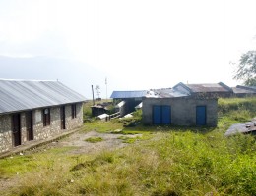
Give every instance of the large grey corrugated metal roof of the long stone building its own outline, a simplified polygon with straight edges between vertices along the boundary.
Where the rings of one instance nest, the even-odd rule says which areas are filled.
[[[0,114],[85,100],[59,81],[0,79]]]

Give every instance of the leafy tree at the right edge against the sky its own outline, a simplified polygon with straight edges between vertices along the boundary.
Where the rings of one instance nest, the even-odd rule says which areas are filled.
[[[236,80],[243,80],[244,85],[256,86],[256,51],[248,51],[239,60]]]

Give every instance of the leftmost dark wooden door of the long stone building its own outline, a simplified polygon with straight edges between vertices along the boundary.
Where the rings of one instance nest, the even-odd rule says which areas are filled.
[[[12,117],[13,145],[21,145],[21,116],[14,114]]]

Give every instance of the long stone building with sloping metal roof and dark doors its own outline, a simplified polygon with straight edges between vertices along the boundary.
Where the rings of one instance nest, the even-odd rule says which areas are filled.
[[[59,81],[0,80],[0,153],[83,124],[85,97]]]

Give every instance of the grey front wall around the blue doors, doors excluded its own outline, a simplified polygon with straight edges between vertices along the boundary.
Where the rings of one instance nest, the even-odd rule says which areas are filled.
[[[206,106],[207,125],[217,125],[217,99],[145,98],[142,109],[144,124],[153,124],[153,106],[155,105],[171,107],[171,124],[173,125],[196,125],[196,107]]]

